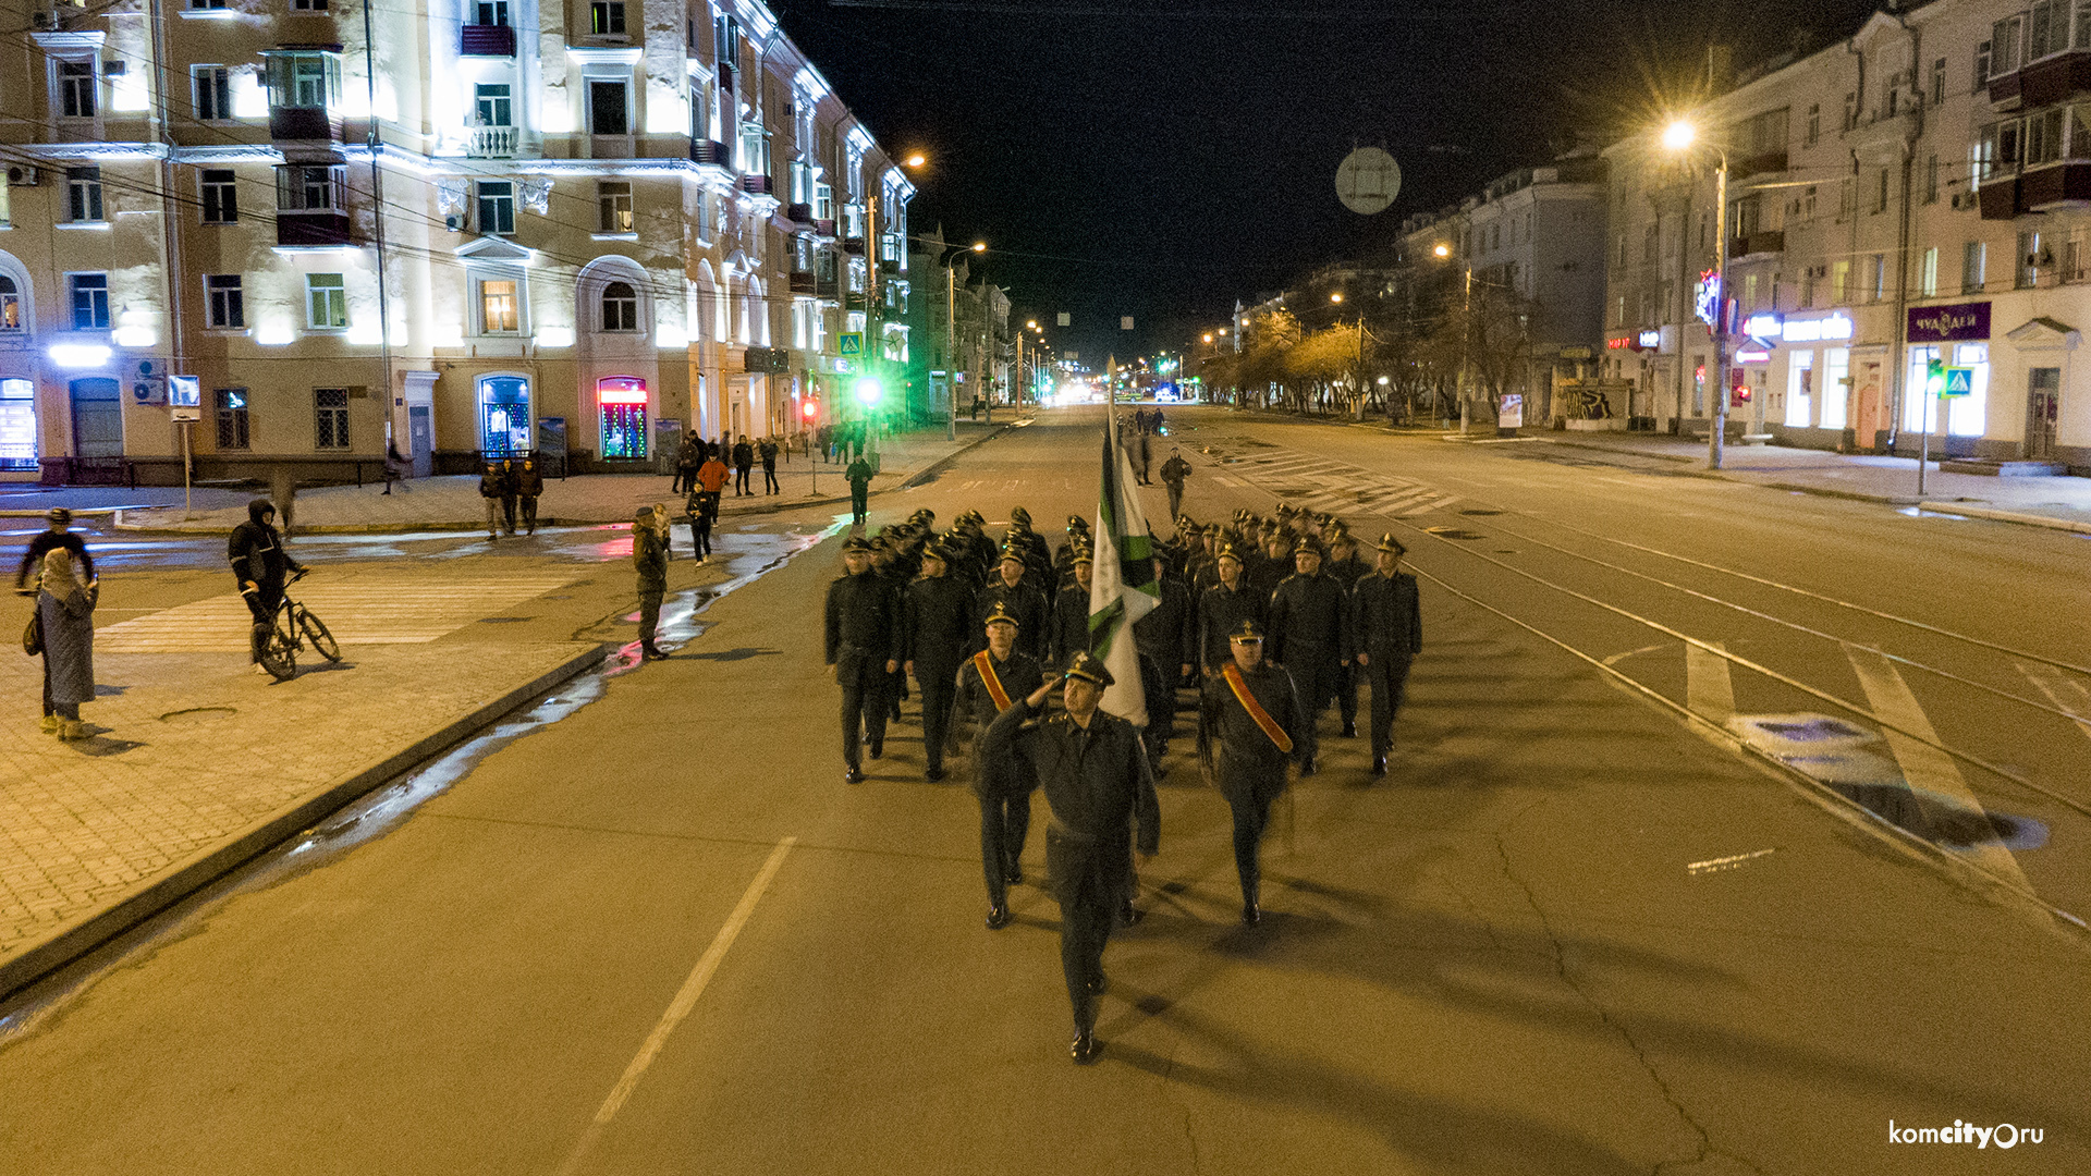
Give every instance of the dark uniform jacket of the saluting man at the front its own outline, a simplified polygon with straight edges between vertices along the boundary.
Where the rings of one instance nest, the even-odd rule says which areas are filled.
[[[1043,714],[1043,705],[1016,699],[987,728],[981,753],[997,760],[1018,749],[1029,753],[1052,806],[1046,864],[1060,904],[1089,896],[1117,906],[1131,889],[1133,822],[1140,822],[1142,854],[1161,850],[1163,841],[1163,810],[1140,732],[1102,709],[1089,716],[1087,728],[1066,711],[1027,728]]]

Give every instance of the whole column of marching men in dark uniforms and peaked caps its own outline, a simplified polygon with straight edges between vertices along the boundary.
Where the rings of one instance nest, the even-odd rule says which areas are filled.
[[[1002,536],[979,511],[939,532],[930,511],[843,544],[828,588],[826,657],[843,688],[847,783],[880,760],[910,680],[920,695],[924,778],[966,755],[981,808],[987,927],[1010,923],[1031,793],[1052,810],[1050,885],[1075,1011],[1075,1061],[1092,1061],[1104,944],[1135,923],[1133,854],[1161,847],[1154,781],[1179,709],[1196,711],[1198,764],[1234,814],[1242,921],[1261,921],[1259,852],[1290,774],[1319,770],[1317,718],[1334,705],[1357,737],[1372,707],[1372,776],[1386,774],[1409,663],[1422,651],[1416,578],[1382,536],[1359,552],[1330,515],[1280,506],[1225,523],[1175,521],[1156,540],[1158,605],[1133,624],[1148,726],[1100,709],[1115,684],[1089,644],[1094,548],[1081,517],[1048,542],[1014,506]],[[1181,699],[1194,705],[1184,707]]]

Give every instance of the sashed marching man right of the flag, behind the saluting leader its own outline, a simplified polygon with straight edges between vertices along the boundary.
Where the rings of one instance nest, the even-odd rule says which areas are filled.
[[[1313,762],[1313,716],[1301,707],[1292,676],[1263,659],[1263,628],[1242,621],[1230,634],[1232,661],[1207,678],[1198,760],[1219,778],[1219,795],[1234,810],[1234,868],[1242,879],[1242,923],[1263,917],[1257,906],[1257,847],[1271,818],[1271,801],[1286,791],[1286,764]],[[1255,703],[1255,709],[1250,709]],[[1213,743],[1219,764],[1213,764]]]

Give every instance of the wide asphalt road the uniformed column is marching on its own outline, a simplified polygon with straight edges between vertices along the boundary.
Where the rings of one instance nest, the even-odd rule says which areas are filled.
[[[920,781],[918,728],[841,781],[828,538],[692,594],[677,657],[575,682],[15,1009],[0,1172],[2091,1168],[2091,954],[2049,912],[2091,910],[2091,739],[2030,705],[2091,663],[2083,540],[1541,444],[1171,416],[1196,515],[1340,481],[1359,532],[1403,534],[1428,649],[1393,774],[1368,787],[1361,741],[1326,739],[1280,806],[1259,929],[1225,806],[1175,755],[1096,1067],[1064,1053],[1056,908],[1027,885],[1014,927],[981,927],[976,810]],[[1094,515],[1096,419],[1046,414],[874,523]],[[749,571],[828,525],[780,517]],[[1974,804],[2018,843],[1932,852],[1656,697],[1706,732],[1865,726],[1924,783],[1909,824]],[[1934,791],[1949,768],[1968,801]],[[2024,887],[1986,881],[2005,864]],[[1903,1145],[1890,1120],[2043,1138]]]

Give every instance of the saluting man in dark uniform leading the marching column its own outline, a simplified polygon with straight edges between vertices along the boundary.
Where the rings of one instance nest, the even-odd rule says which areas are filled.
[[[1069,1053],[1077,1063],[1089,1063],[1100,1050],[1096,998],[1104,992],[1104,944],[1119,908],[1131,898],[1131,827],[1140,822],[1142,858],[1154,856],[1161,850],[1161,804],[1140,732],[1098,709],[1104,686],[1112,682],[1110,670],[1094,655],[1077,653],[1060,682],[1064,711],[1043,718],[1054,684],[1039,686],[995,718],[983,753],[991,760],[1029,755],[1052,806],[1046,864],[1060,900],[1060,969],[1075,1007]],[[1025,724],[1033,726],[1025,730]]]

